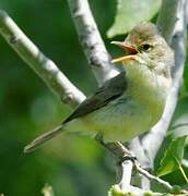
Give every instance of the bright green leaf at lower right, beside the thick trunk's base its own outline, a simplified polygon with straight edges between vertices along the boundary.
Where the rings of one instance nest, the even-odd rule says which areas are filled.
[[[157,175],[162,176],[179,169],[181,159],[184,157],[184,146],[186,144],[187,136],[181,136],[173,139],[169,147],[165,151],[163,159],[161,160],[161,167],[157,170]]]

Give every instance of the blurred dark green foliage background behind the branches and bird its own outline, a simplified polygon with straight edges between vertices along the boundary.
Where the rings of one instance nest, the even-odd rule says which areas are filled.
[[[91,0],[90,3],[107,48],[115,53],[105,35],[113,23],[116,1]],[[90,95],[95,89],[96,83],[78,41],[66,1],[0,0],[0,8],[81,90]],[[0,78],[0,193],[39,196],[43,186],[49,183],[56,196],[106,195],[115,183],[113,158],[86,136],[62,135],[36,152],[23,154],[23,147],[31,139],[55,127],[70,110],[2,37]],[[181,90],[184,107],[178,109],[175,120],[183,113],[187,117],[187,87],[185,85]],[[164,147],[171,138],[172,135]],[[174,184],[185,184],[178,172],[166,177]]]

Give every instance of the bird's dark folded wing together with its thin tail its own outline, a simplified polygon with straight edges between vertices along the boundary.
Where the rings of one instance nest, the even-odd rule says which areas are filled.
[[[126,73],[121,72],[114,78],[106,81],[102,87],[99,87],[94,95],[87,97],[83,102],[81,102],[75,110],[55,130],[49,131],[42,136],[37,137],[24,149],[25,152],[35,150],[38,146],[46,143],[50,138],[55,137],[62,132],[63,124],[72,121],[73,119],[81,118],[87,113],[93,112],[94,110],[101,109],[110,101],[120,97],[127,87],[126,83]]]

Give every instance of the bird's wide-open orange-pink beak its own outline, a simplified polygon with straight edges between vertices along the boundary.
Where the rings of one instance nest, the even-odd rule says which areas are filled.
[[[138,53],[137,49],[133,48],[132,46],[127,45],[124,41],[111,41],[110,44],[116,45],[120,48],[122,48],[124,50],[126,50],[127,54],[113,59],[111,63],[117,63],[117,62],[128,62],[130,60],[134,60],[136,59],[136,54]]]

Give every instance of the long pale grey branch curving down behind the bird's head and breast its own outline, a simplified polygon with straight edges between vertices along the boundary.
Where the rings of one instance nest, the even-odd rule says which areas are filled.
[[[165,133],[168,128],[168,125],[171,123],[172,117],[174,114],[177,100],[178,100],[178,91],[179,86],[181,83],[181,77],[184,73],[184,66],[185,66],[185,57],[186,57],[186,0],[177,0],[175,4],[177,5],[177,9],[173,9],[175,4],[173,4],[172,0],[164,0],[163,5],[164,8],[161,9],[160,17],[158,17],[158,25],[163,26],[162,30],[165,35],[165,38],[167,40],[172,39],[172,47],[175,51],[175,66],[173,68],[173,85],[166,101],[166,107],[163,113],[162,119],[160,122],[149,132],[142,139],[143,147],[146,149],[150,160],[153,164],[154,158],[157,154],[157,150],[160,146],[163,143],[163,139],[165,137]],[[171,8],[168,5],[172,5]],[[166,10],[169,10],[172,13],[171,17],[166,17]],[[176,10],[177,12],[173,12],[172,10]],[[167,23],[166,20],[164,20],[164,24],[162,25],[163,21],[162,19],[168,19],[169,22]],[[176,19],[176,20],[175,20]],[[171,21],[172,20],[172,21]],[[166,22],[166,23],[165,23]],[[173,25],[174,22],[174,25]],[[169,24],[169,26],[168,26]],[[173,29],[174,26],[174,29]],[[174,34],[169,33],[174,32]],[[156,139],[157,138],[157,139]]]

